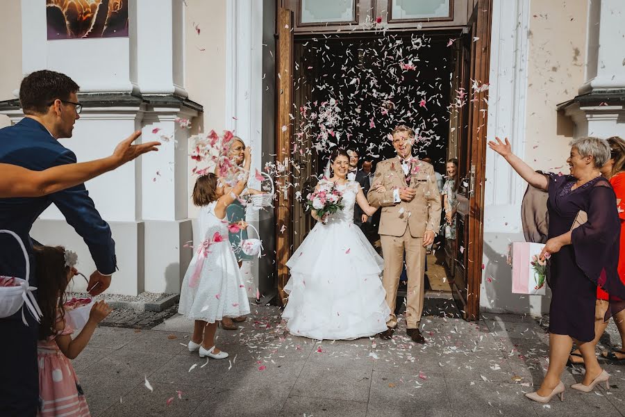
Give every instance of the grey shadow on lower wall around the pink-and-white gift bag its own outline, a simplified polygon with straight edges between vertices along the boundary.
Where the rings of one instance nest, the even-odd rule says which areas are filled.
[[[547,288],[547,295],[512,293],[512,267],[507,262],[508,245],[512,241],[524,241],[524,238],[517,234],[505,234],[505,237],[505,241],[496,237],[495,240],[499,241],[495,243],[484,241],[485,268],[481,284],[481,308],[492,313],[516,313],[531,316],[548,313],[549,300],[551,300],[549,288]]]

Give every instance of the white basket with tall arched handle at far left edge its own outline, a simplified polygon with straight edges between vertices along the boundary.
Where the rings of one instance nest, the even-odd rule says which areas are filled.
[[[24,253],[24,262],[26,262],[26,279],[14,277],[17,286],[0,287],[0,318],[12,316],[26,303],[28,311],[30,311],[35,320],[39,322],[42,313],[33,295],[33,291],[35,291],[37,287],[28,285],[28,277],[31,275],[31,263],[28,261],[26,247],[24,247],[22,239],[20,239],[15,232],[0,230],[0,233],[10,234],[17,240],[19,247],[22,248],[22,252]],[[24,310],[22,310],[22,322],[28,326],[28,322],[26,322],[26,318],[24,317]]]

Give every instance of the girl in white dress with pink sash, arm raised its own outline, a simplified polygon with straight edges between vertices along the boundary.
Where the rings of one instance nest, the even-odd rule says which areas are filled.
[[[247,185],[250,161],[248,147],[243,173],[232,190],[224,190],[213,173],[199,177],[193,188],[193,202],[201,206],[199,227],[203,240],[196,245],[196,253],[185,274],[178,313],[195,320],[188,347],[190,352],[199,350],[200,357],[228,357],[215,347],[217,322],[224,317],[249,314],[247,291],[228,240],[226,208]],[[238,226],[244,229],[247,224],[240,222]]]

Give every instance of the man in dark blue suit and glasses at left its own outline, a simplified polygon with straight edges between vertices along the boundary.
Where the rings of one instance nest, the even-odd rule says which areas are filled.
[[[0,163],[37,171],[75,163],[74,152],[57,140],[72,137],[82,108],[77,92],[78,85],[58,72],[43,70],[26,76],[19,90],[25,117],[15,126],[0,129]],[[0,199],[0,229],[14,231],[31,252],[31,286],[37,286],[37,282],[33,240],[28,234],[50,204],[59,208],[89,247],[97,268],[89,280],[91,294],[106,290],[117,268],[115,242],[83,184],[45,197]],[[0,275],[25,278],[24,256],[15,240],[2,234],[0,247]],[[24,311],[24,317],[28,326],[22,322],[22,311],[0,318],[0,334],[6,338],[0,343],[0,416],[35,416],[38,410],[38,325],[28,311]]]

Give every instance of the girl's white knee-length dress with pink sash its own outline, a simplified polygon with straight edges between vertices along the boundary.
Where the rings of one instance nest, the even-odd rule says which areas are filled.
[[[249,314],[247,291],[228,241],[228,222],[217,218],[213,202],[199,213],[200,236],[183,280],[178,313],[214,323]]]

